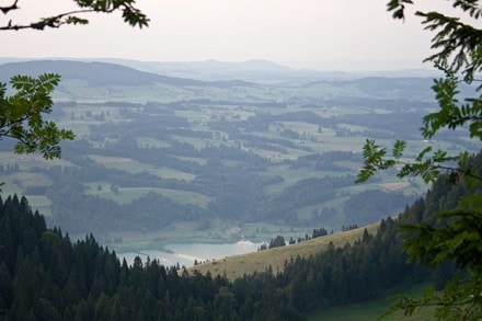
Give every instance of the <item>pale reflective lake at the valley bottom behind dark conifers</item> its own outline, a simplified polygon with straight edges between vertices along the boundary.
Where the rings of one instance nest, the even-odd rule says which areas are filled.
[[[194,261],[204,262],[207,260],[219,260],[226,256],[239,255],[255,252],[262,243],[253,243],[251,241],[239,241],[227,244],[208,244],[208,243],[168,243],[162,250],[140,250],[138,252],[117,252],[117,256],[126,259],[129,265],[134,259],[139,256],[146,262],[149,256],[156,259],[164,266],[172,266],[179,263],[180,266],[192,266]]]

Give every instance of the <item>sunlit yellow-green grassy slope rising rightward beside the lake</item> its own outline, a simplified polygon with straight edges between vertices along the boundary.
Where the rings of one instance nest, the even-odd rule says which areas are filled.
[[[376,233],[378,226],[379,222],[375,222],[363,228],[334,233],[292,245],[229,256],[222,260],[192,266],[187,271],[193,272],[197,270],[203,274],[206,274],[209,271],[213,275],[226,275],[231,280],[243,276],[243,274],[266,271],[269,265],[272,266],[273,272],[276,273],[277,271],[282,271],[285,262],[289,261],[291,257],[296,257],[297,255],[300,255],[301,257],[314,255],[325,249],[330,242],[333,242],[335,247],[343,247],[346,242],[353,243],[362,238],[365,228],[369,233]]]

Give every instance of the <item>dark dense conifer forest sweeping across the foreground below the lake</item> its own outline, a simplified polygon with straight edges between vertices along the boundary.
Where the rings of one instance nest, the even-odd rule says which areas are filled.
[[[482,154],[472,160],[482,168]],[[481,193],[481,186],[475,190]],[[229,282],[220,275],[179,273],[156,260],[128,265],[94,236],[73,242],[25,197],[0,202],[0,317],[5,320],[303,320],[326,308],[375,299],[400,284],[433,282],[440,288],[455,267],[406,263],[402,223],[429,219],[457,206],[462,184],[440,176],[425,198],[376,234],[308,259],[283,272],[268,268]],[[437,221],[437,225],[443,223]]]

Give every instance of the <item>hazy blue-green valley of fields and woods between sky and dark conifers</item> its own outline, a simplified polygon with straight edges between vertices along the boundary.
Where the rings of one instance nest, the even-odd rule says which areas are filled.
[[[355,186],[367,138],[475,149],[454,134],[420,139],[420,119],[435,107],[429,77],[359,78],[268,61],[193,66],[191,73],[205,76],[102,61],[1,65],[1,81],[61,74],[51,116],[77,135],[62,144],[61,160],[49,162],[13,156],[2,141],[4,193],[27,196],[49,226],[93,232],[119,250],[180,240],[260,243],[367,225],[424,193],[417,180],[390,173]]]

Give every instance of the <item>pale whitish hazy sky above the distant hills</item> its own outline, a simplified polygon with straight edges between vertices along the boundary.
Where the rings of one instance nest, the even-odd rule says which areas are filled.
[[[11,1],[0,0],[1,4]],[[28,20],[69,0],[20,0],[7,18]],[[133,28],[119,14],[89,26],[0,32],[1,57],[114,57],[156,61],[268,59],[296,68],[398,69],[422,66],[431,34],[420,19],[395,21],[388,0],[138,0],[151,20]],[[425,1],[426,2],[426,1]],[[431,1],[444,5],[447,1]],[[38,4],[42,3],[42,7]],[[54,5],[56,3],[56,5]],[[413,11],[413,10],[411,10]],[[0,14],[1,24],[5,16]],[[426,68],[429,68],[426,65]]]

